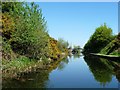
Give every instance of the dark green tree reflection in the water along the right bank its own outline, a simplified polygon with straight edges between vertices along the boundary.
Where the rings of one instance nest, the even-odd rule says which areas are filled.
[[[89,55],[84,56],[84,60],[89,66],[95,80],[100,82],[103,87],[111,82],[113,75],[120,82],[119,62]]]

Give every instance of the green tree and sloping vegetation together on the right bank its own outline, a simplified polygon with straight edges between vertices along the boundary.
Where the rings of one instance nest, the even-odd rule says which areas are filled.
[[[85,44],[83,53],[98,53],[99,55],[120,56],[120,33],[112,34],[112,29],[106,24],[98,27],[88,42]]]

